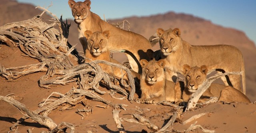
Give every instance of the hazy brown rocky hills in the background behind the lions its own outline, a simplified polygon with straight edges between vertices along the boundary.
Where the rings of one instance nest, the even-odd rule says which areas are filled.
[[[42,11],[35,9],[31,4],[21,4],[16,2],[16,0],[1,0],[0,12],[0,26],[2,26],[6,23],[30,19]],[[44,16],[44,18],[49,19],[50,16]],[[254,71],[254,68],[256,68],[256,47],[244,32],[218,26],[203,18],[188,14],[176,14],[174,12],[144,17],[133,16],[110,20],[108,23],[121,22],[122,20],[128,20],[130,22],[130,30],[146,38],[155,34],[157,28],[163,28],[165,30],[168,28],[180,28],[182,39],[192,45],[228,44],[236,46],[242,51],[244,56],[247,95],[252,101],[256,100],[256,89],[254,89],[254,86],[256,86],[256,71]],[[82,51],[82,46],[77,39],[77,25],[73,20],[68,20],[68,22],[71,22],[68,40],[72,45],[78,44],[78,51]],[[157,49],[159,49],[159,46],[154,47],[154,50]],[[124,58],[119,58],[124,57],[122,54],[122,56],[120,54],[117,55],[114,58],[119,61],[124,60]]]

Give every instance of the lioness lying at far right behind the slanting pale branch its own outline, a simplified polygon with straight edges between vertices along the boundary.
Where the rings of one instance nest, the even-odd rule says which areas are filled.
[[[188,101],[198,87],[206,80],[208,67],[203,65],[201,67],[190,67],[185,64],[183,67],[184,76],[186,77],[185,88],[182,93],[182,99]],[[202,94],[198,102],[203,103],[210,97],[219,97],[218,101],[226,102],[244,102],[250,103],[250,100],[241,91],[232,86],[225,86],[217,83],[212,83],[210,87]]]

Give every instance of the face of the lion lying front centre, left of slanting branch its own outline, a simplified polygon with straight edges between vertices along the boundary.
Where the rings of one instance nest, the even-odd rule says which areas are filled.
[[[164,60],[140,60],[142,66],[142,80],[145,80],[149,85],[153,85],[157,81],[165,80],[164,75]]]

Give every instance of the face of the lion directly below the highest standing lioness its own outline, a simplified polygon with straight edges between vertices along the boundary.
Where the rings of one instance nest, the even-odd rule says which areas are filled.
[[[84,36],[88,40],[88,48],[90,53],[94,56],[99,56],[100,54],[108,50],[108,38],[110,37],[110,31],[104,32],[94,32],[86,30]]]

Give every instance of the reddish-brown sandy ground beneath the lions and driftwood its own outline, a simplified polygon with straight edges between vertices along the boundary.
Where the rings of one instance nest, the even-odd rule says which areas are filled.
[[[4,67],[16,67],[29,64],[39,63],[37,60],[21,56],[21,52],[18,48],[9,48],[8,46],[0,46],[0,65]],[[4,77],[0,77],[0,95],[10,95],[20,103],[26,105],[28,109],[34,111],[38,108],[38,104],[46,99],[52,92],[66,93],[72,86],[76,86],[75,82],[68,83],[68,85],[57,85],[52,89],[44,89],[38,86],[38,80],[45,72],[38,72],[29,75],[25,75],[16,81],[7,81]],[[106,88],[100,88],[103,91],[107,91]],[[127,105],[126,110],[121,110],[119,117],[132,118],[132,114],[137,113],[142,117],[149,119],[151,123],[155,124],[159,128],[163,127],[176,111],[175,107],[165,105],[149,105],[136,102],[130,102],[127,99],[119,100],[113,99],[109,93],[101,95],[104,99],[113,103],[122,103]],[[117,97],[124,97],[122,95],[116,95]],[[135,95],[135,98],[138,95]],[[73,109],[60,111],[59,109],[53,110],[48,117],[50,117],[56,124],[61,122],[68,122],[75,125],[75,133],[86,133],[92,131],[92,133],[118,133],[118,128],[114,123],[112,110],[108,107],[106,109],[100,106],[106,106],[99,101],[93,101],[86,99],[86,104],[92,106],[92,113],[88,113],[88,116],[81,119],[82,116],[77,113],[77,109],[83,109],[84,105],[78,104]],[[16,107],[0,101],[0,133],[6,133],[10,131],[10,127],[23,116],[23,112],[19,111]],[[206,115],[191,121],[187,124],[182,124],[190,117],[206,113]],[[84,115],[86,115],[84,113]],[[168,130],[186,130],[191,124],[201,125],[204,129],[214,130],[217,133],[255,133],[256,132],[256,104],[250,103],[211,103],[204,105],[193,111],[187,111],[180,115],[176,122],[168,127]],[[122,125],[127,133],[140,133],[142,130],[144,133],[153,132],[145,125],[124,122]],[[40,125],[32,119],[26,119],[19,126],[17,131],[20,133],[27,133],[27,130],[31,129],[32,133],[39,133],[40,131],[48,131],[48,128]],[[69,130],[67,130],[69,132]],[[195,129],[190,133],[203,133],[202,129]]]

